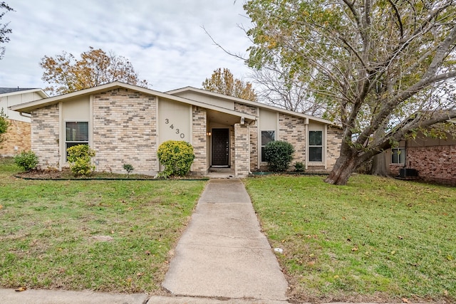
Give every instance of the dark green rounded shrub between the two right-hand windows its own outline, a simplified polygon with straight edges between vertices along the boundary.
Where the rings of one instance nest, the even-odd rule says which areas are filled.
[[[276,140],[264,146],[264,155],[268,159],[268,169],[272,172],[284,172],[290,167],[294,147],[289,142]]]

